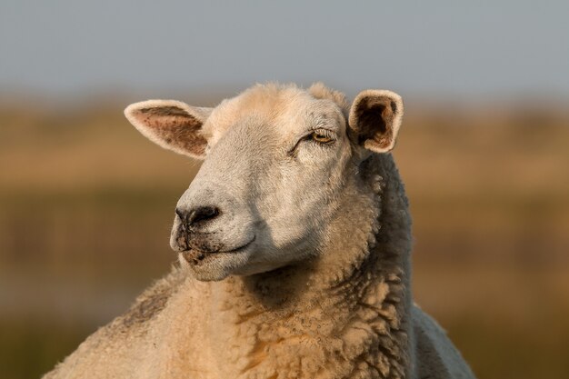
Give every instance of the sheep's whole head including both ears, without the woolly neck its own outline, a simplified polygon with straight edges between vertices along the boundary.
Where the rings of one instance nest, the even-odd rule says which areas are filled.
[[[317,259],[342,205],[369,195],[358,167],[393,148],[403,105],[388,91],[348,108],[323,85],[257,85],[215,108],[158,100],[125,115],[158,145],[204,159],[171,246],[197,279],[221,280]]]

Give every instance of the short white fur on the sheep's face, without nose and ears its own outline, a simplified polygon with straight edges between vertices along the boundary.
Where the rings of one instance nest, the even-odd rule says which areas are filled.
[[[275,109],[249,106],[235,117],[240,101],[221,105],[207,121],[208,155],[177,206],[219,208],[204,232],[227,246],[222,250],[247,245],[191,262],[198,279],[257,274],[317,254],[351,156],[344,115],[329,100],[299,92],[276,115]],[[316,142],[314,133],[332,142]],[[173,244],[179,227],[176,218]]]

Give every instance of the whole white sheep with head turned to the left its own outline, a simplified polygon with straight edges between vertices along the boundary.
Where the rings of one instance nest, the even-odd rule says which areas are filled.
[[[180,266],[45,378],[473,378],[412,302],[411,219],[392,155],[399,95],[316,84],[128,120],[204,159],[175,210]]]

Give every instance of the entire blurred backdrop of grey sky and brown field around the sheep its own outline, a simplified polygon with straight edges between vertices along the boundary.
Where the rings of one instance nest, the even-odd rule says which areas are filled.
[[[566,2],[0,4],[0,377],[35,378],[168,272],[199,164],[125,105],[255,82],[404,96],[414,295],[480,378],[569,376]]]

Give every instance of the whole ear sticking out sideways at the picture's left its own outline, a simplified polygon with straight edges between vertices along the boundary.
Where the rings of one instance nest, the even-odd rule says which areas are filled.
[[[155,144],[178,154],[205,158],[207,141],[202,126],[212,108],[198,108],[175,100],[148,100],[128,105],[125,116]]]

